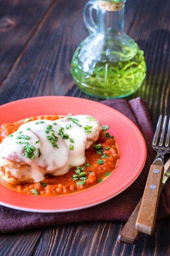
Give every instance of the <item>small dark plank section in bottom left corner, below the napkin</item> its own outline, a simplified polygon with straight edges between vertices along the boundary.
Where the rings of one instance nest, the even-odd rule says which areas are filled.
[[[44,229],[0,234],[0,255],[31,256],[39,243]]]

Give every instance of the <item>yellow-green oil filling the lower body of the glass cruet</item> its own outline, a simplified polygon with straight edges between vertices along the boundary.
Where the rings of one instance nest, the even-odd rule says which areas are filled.
[[[144,53],[137,53],[127,60],[92,61],[87,58],[82,65],[77,49],[72,58],[72,77],[85,93],[98,98],[121,98],[136,92],[146,76]]]

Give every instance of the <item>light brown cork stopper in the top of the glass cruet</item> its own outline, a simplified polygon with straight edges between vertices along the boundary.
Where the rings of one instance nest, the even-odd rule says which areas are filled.
[[[98,0],[98,6],[100,7],[100,9],[103,9],[105,11],[118,11],[124,7],[124,1],[110,2],[105,0]]]

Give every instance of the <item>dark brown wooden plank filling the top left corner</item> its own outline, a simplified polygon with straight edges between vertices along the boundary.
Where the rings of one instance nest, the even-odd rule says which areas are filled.
[[[0,1],[0,83],[20,58],[20,53],[52,1]]]

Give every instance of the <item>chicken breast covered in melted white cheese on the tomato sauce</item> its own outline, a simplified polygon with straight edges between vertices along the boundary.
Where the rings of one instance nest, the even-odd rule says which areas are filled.
[[[98,139],[102,130],[101,124],[96,119],[88,117],[87,115],[75,115],[56,121],[37,120],[22,124],[17,132],[13,132],[11,137],[2,141],[0,157],[20,165],[27,164],[29,166],[29,178],[34,182],[43,180],[46,173],[56,176],[63,175],[72,166],[85,163],[85,149],[89,148]],[[37,124],[37,122],[39,123]],[[27,128],[30,128],[30,130],[27,130]],[[62,132],[67,135],[67,139],[59,135]],[[29,139],[20,138],[21,135],[27,135]],[[47,136],[51,136],[51,138],[55,136],[57,141],[53,140],[53,142],[57,144],[58,148],[52,145],[51,138]],[[70,141],[70,138],[73,139],[74,143]],[[36,141],[39,142],[36,143]],[[70,145],[74,146],[73,150]],[[35,147],[33,151],[35,158],[31,159],[24,155],[26,153],[24,146]],[[28,166],[25,169],[22,168],[22,173],[19,173],[15,168],[9,169],[11,175],[24,182],[23,177],[28,180]],[[24,173],[24,170],[27,173]]]

